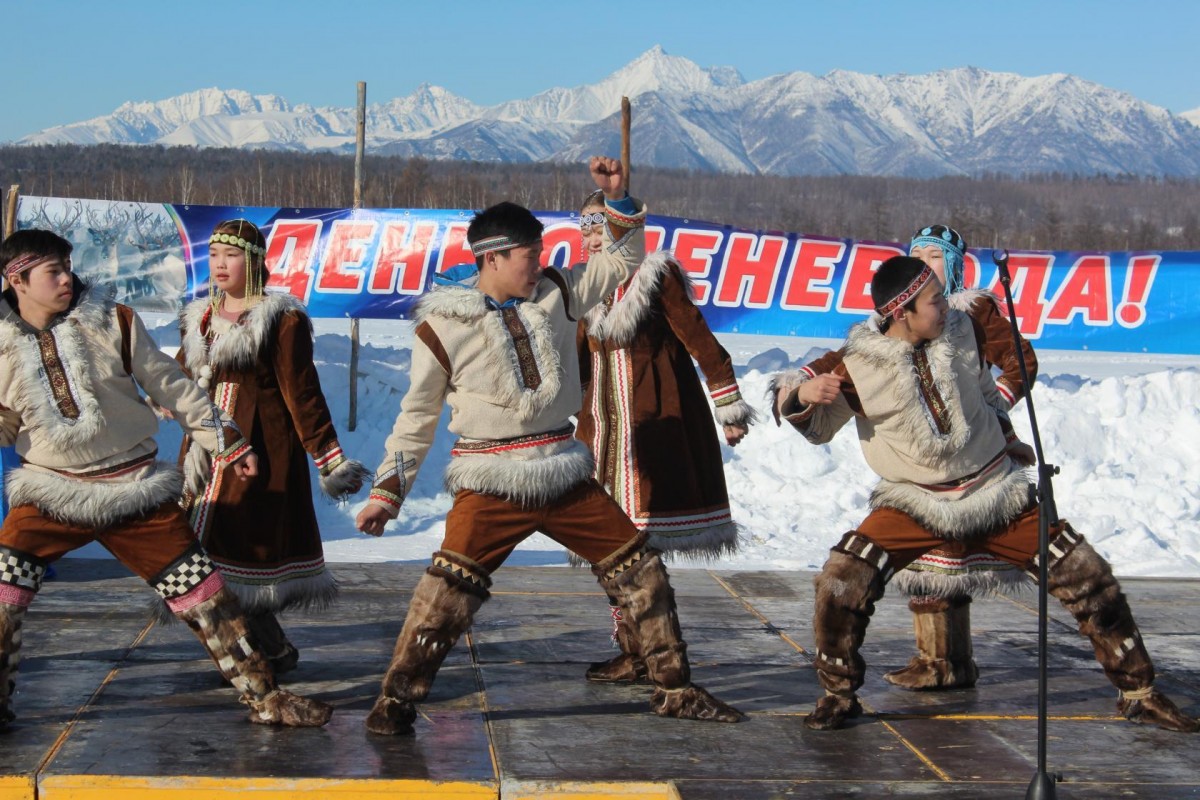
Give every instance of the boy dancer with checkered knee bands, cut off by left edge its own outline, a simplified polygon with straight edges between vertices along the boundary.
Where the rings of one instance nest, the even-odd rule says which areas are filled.
[[[252,722],[324,724],[330,706],[276,686],[238,599],[192,537],[179,470],[156,462],[158,422],[139,387],[227,480],[253,477],[254,453],[131,308],[72,275],[70,255],[71,243],[46,230],[0,246],[11,283],[0,300],[0,445],[14,444],[23,462],[0,528],[0,727],[14,716],[25,609],[49,564],[92,541],[192,628]]]

